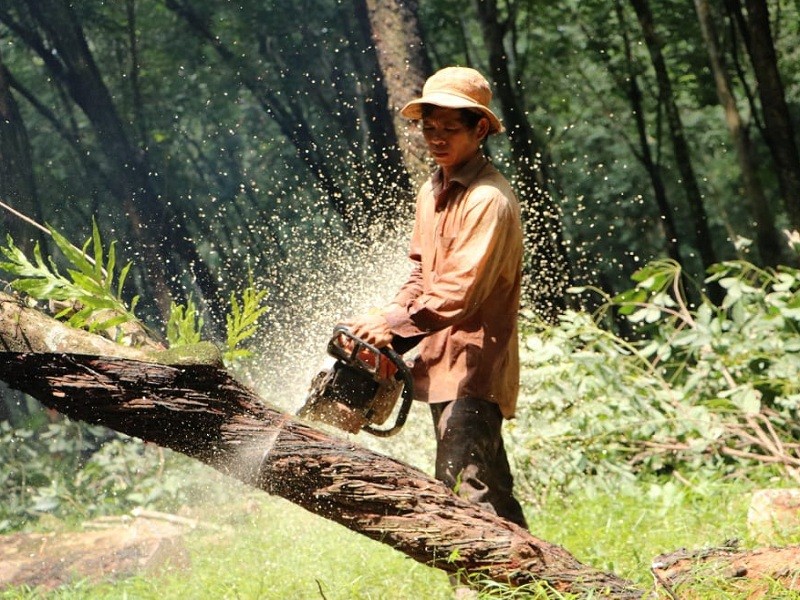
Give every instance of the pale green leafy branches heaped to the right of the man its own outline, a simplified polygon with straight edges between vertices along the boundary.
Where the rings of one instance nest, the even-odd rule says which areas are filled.
[[[720,307],[690,308],[682,279],[656,261],[609,299],[606,310],[643,328],[637,341],[600,327],[602,313],[567,313],[526,336],[511,446],[529,493],[574,490],[587,474],[619,485],[778,468],[798,480],[800,271],[716,265]]]

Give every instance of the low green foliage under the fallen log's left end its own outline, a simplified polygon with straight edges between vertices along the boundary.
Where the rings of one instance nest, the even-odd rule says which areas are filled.
[[[197,485],[175,468],[194,467],[189,462],[84,423],[0,423],[0,531],[42,515],[88,519],[135,507],[173,507]]]

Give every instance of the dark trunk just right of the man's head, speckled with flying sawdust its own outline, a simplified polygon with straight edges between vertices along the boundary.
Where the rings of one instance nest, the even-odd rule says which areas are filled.
[[[489,54],[489,78],[503,111],[511,154],[518,173],[517,189],[523,210],[527,292],[531,308],[547,322],[555,323],[566,306],[571,267],[564,248],[561,212],[550,188],[548,152],[531,127],[526,106],[513,84],[504,47],[507,22],[501,22],[496,0],[475,0],[475,10]]]

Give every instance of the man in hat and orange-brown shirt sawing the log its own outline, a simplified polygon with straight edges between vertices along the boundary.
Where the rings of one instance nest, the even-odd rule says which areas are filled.
[[[433,415],[436,478],[527,527],[501,435],[519,389],[522,230],[511,186],[482,152],[503,131],[491,98],[480,73],[448,67],[401,110],[422,121],[438,165],[417,194],[414,268],[389,306],[348,325],[378,347],[422,338],[414,390]]]

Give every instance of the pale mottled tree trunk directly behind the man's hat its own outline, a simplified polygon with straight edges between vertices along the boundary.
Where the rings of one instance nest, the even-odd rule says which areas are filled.
[[[419,96],[432,67],[422,40],[416,0],[356,0],[356,16],[370,32],[403,162],[414,187],[430,171],[428,150],[400,109]],[[409,207],[410,208],[410,207]],[[410,212],[410,210],[409,210]]]

